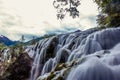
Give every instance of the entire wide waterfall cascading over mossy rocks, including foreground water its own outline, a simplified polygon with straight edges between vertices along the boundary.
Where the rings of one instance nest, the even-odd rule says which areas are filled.
[[[30,80],[120,80],[119,35],[120,28],[94,28],[40,40],[26,50]]]

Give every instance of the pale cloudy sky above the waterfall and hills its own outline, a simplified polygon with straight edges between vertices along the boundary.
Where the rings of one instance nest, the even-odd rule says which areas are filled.
[[[57,20],[53,0],[0,0],[0,34],[12,40],[44,34],[85,30],[96,27],[97,5],[93,0],[82,0],[80,17]]]

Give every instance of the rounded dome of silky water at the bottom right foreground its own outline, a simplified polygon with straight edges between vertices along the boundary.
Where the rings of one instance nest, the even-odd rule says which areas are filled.
[[[120,77],[115,77],[119,74],[116,75],[112,68],[115,67],[110,67],[93,57],[73,69],[67,80],[120,80]]]

